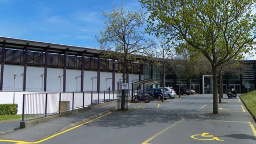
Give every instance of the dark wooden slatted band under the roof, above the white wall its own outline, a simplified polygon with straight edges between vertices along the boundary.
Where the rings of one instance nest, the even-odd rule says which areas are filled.
[[[24,50],[14,50],[5,48],[5,64],[10,65],[24,65]],[[0,47],[0,61],[2,61],[2,47]],[[82,57],[77,55],[67,55],[67,69],[81,69]],[[44,67],[45,65],[45,52],[28,51],[27,55],[28,66]],[[98,58],[84,57],[84,70],[97,71]],[[63,68],[64,66],[64,54],[48,53],[47,54],[47,67],[50,68]],[[116,63],[115,71],[121,71],[122,65]],[[100,60],[100,71],[113,72],[113,60]],[[129,68],[130,74],[139,74],[139,64],[132,63]],[[142,69],[143,74],[143,69]]]

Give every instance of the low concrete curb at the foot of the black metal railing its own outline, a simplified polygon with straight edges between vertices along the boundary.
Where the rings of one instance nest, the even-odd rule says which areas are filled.
[[[43,118],[32,119],[32,120],[29,120],[29,121],[26,121],[26,122],[20,122],[19,129],[25,129],[26,127],[33,126],[37,123],[43,123],[43,122],[51,121],[52,119],[55,119],[55,118],[58,118],[58,117],[80,113],[80,112],[85,111],[85,110],[106,106],[106,105],[109,105],[109,104],[115,103],[115,102],[116,102],[116,100],[113,100],[113,101],[109,101],[109,102],[106,102],[106,103],[102,103],[100,105],[93,105],[93,106],[89,106],[89,107],[85,107],[85,108],[81,108],[81,109],[76,109],[76,110],[73,110],[73,111],[67,111],[67,112],[61,113],[61,114],[55,114],[55,115],[51,115],[51,116],[47,116],[47,117],[43,117]]]

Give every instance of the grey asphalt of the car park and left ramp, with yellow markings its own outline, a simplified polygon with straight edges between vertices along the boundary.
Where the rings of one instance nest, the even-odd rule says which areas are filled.
[[[92,144],[256,143],[255,122],[239,99],[223,99],[225,103],[219,104],[219,112],[230,114],[229,117],[210,117],[205,114],[212,113],[212,94],[181,97],[181,99],[175,98],[165,102],[132,103],[127,113],[109,113],[53,138],[43,139],[45,135],[59,132],[60,129],[54,129],[54,127],[61,127],[60,123],[63,123],[62,127],[67,121],[74,123],[81,116],[87,115],[86,111],[84,114],[77,115],[79,118],[70,115],[62,121],[58,118],[28,129],[0,134],[0,139],[37,141],[38,143]],[[115,104],[111,105],[115,107]],[[108,108],[111,108],[110,105]],[[106,106],[104,110],[108,108]],[[15,142],[0,140],[0,143]]]

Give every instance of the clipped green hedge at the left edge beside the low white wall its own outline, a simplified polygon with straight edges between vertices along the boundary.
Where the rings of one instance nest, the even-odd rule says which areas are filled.
[[[0,104],[0,115],[16,115],[18,104]]]

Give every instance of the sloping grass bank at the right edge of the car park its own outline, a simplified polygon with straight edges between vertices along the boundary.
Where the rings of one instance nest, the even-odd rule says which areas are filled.
[[[256,117],[256,91],[245,93],[240,96],[245,105],[250,109],[254,117]]]

